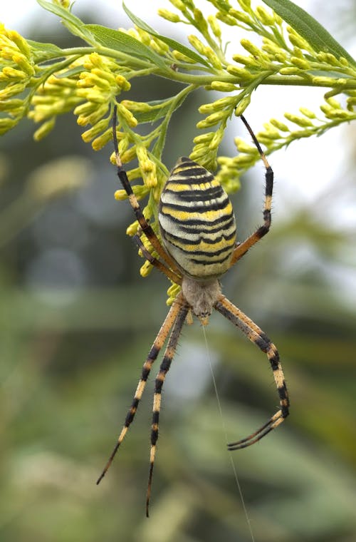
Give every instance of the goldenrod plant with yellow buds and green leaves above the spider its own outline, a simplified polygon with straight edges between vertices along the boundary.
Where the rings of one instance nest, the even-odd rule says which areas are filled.
[[[139,200],[148,197],[145,216],[157,230],[157,202],[169,172],[162,163],[167,128],[175,111],[190,93],[204,88],[214,99],[201,104],[204,118],[190,158],[215,171],[227,192],[239,188],[239,178],[258,160],[256,148],[236,138],[239,154],[219,155],[231,117],[243,113],[251,94],[260,85],[290,85],[325,88],[320,112],[300,106],[298,113],[271,119],[257,134],[266,154],[294,140],[318,136],[333,126],[355,120],[356,62],[328,32],[289,0],[265,0],[253,8],[249,0],[206,0],[214,14],[204,16],[194,0],[169,0],[174,11],[159,9],[171,24],[184,25],[189,46],[158,34],[123,4],[134,28],[112,30],[86,25],[70,11],[68,0],[37,0],[43,9],[60,17],[64,26],[85,45],[61,49],[53,44],[26,40],[14,30],[0,26],[0,133],[14,128],[27,116],[40,126],[40,140],[55,126],[58,115],[73,111],[82,138],[94,150],[112,138],[112,111],[117,104],[117,139],[123,163],[137,159],[128,170]],[[236,27],[236,42],[225,43],[226,27]],[[244,37],[251,33],[251,41]],[[258,45],[256,44],[258,43]],[[157,101],[132,101],[131,81],[155,76],[182,84],[175,96]],[[216,99],[215,93],[221,93]],[[137,126],[149,124],[140,135]],[[112,155],[111,160],[115,163]],[[142,182],[137,180],[142,179]],[[126,198],[117,190],[118,200]],[[135,235],[137,223],[127,228]],[[140,232],[139,232],[140,233]],[[152,247],[142,236],[147,250]],[[141,274],[150,272],[150,264]],[[177,288],[169,290],[174,297]]]

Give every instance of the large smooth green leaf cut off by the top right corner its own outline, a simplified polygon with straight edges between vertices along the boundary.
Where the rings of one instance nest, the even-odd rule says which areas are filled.
[[[347,61],[356,66],[356,61],[347,51],[331,36],[325,28],[315,21],[304,9],[295,6],[290,0],[263,0],[267,6],[276,11],[283,21],[293,27],[317,51],[333,53],[336,58],[343,56]]]

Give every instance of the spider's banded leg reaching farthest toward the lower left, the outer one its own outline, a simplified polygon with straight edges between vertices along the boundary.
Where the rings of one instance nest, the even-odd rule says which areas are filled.
[[[183,303],[184,303],[184,298],[182,294],[179,294],[177,296],[177,299],[174,301],[172,307],[170,308],[167,314],[167,317],[162,324],[161,329],[159,329],[155,342],[152,344],[152,347],[147,356],[147,359],[145,363],[143,364],[141,378],[140,378],[139,383],[137,384],[137,389],[136,389],[134,398],[132,400],[130,410],[127,412],[125,423],[117,439],[117,443],[115,444],[115,447],[112,450],[112,454],[110,455],[110,458],[108,459],[108,463],[105,465],[103,472],[100,474],[98,481],[96,482],[97,484],[100,484],[100,481],[104,478],[105,474],[107,473],[110,465],[112,464],[112,460],[114,459],[115,454],[117,450],[119,449],[120,444],[122,443],[123,439],[125,439],[125,436],[130,427],[130,424],[132,424],[132,421],[135,418],[137,407],[138,407],[138,404],[140,403],[140,399],[145,390],[147,378],[149,377],[152,364],[153,362],[155,362],[155,359],[157,359],[159,351],[161,350],[164,342],[166,341],[168,337],[169,331],[172,329],[174,322],[177,320],[177,316],[182,311]]]

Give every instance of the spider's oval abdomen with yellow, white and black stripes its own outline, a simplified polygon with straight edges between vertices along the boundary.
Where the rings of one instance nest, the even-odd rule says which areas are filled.
[[[208,170],[179,158],[164,185],[158,218],[164,247],[184,275],[204,280],[229,269],[236,241],[234,211]]]

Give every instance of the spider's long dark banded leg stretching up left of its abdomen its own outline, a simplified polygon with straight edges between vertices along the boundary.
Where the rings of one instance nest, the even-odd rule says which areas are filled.
[[[127,193],[127,197],[129,199],[130,205],[135,213],[137,222],[140,224],[142,232],[146,235],[147,239],[150,240],[152,247],[154,247],[159,257],[162,258],[162,260],[167,264],[168,267],[170,267],[174,272],[178,273],[179,270],[177,269],[176,263],[174,262],[172,257],[170,257],[169,254],[162,247],[157,235],[152,229],[152,226],[149,223],[147,223],[147,220],[145,219],[145,216],[142,213],[142,209],[140,208],[140,203],[138,203],[138,200],[135,194],[133,193],[132,187],[130,185],[130,181],[127,178],[127,173],[125,171],[125,168],[123,168],[122,166],[122,161],[119,154],[119,148],[117,145],[117,136],[116,136],[116,123],[117,123],[117,108],[115,106],[114,114],[112,117],[112,139],[114,141],[115,158],[116,158],[116,165],[117,165],[117,177],[120,179],[122,187]]]

